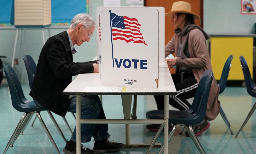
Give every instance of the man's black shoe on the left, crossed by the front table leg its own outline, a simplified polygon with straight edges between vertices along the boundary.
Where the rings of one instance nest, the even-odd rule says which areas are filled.
[[[68,140],[67,140],[68,141]],[[77,151],[77,144],[76,142],[73,142],[69,140],[63,149],[63,152],[66,154],[76,154]],[[81,145],[81,154],[96,154],[95,151],[90,150],[89,148],[85,148]]]

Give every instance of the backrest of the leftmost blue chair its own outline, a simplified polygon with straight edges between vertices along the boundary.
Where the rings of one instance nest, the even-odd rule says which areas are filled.
[[[10,89],[13,107],[16,110],[23,112],[21,106],[26,103],[27,99],[24,96],[18,76],[11,65],[6,65],[4,67],[4,72]]]

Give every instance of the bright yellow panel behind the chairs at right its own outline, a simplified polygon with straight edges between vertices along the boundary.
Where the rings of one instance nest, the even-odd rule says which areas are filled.
[[[233,55],[228,80],[244,80],[239,56],[244,56],[252,75],[253,37],[211,37],[211,64],[216,80],[220,80],[223,66]]]

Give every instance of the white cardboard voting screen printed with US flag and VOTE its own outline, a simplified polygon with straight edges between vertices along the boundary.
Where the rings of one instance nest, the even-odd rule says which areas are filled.
[[[157,89],[158,9],[98,7],[97,18],[102,85]]]

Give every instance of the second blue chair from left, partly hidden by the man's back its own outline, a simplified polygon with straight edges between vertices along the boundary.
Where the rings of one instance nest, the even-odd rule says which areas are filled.
[[[33,80],[34,80],[34,76],[35,76],[35,74],[36,74],[36,63],[35,63],[35,61],[33,60],[33,58],[32,58],[30,55],[25,55],[25,56],[23,56],[23,60],[24,60],[25,66],[26,66],[27,74],[28,74],[29,87],[30,87],[30,89],[31,89],[31,88],[32,88],[32,83],[33,83]],[[34,102],[35,102],[38,106],[41,106],[35,99],[33,99],[33,100],[34,100]],[[74,117],[76,117],[76,116],[74,115],[74,113],[72,113],[72,115],[73,115]],[[69,131],[70,131],[71,134],[72,134],[73,132],[72,132],[72,130],[71,130],[69,124],[68,124],[67,119],[66,119],[65,117],[62,117],[62,118],[63,118],[64,122],[66,123],[66,125],[67,125]],[[76,118],[75,118],[75,119],[76,119]],[[35,117],[34,121],[32,122],[31,126],[33,126],[35,120],[36,120],[36,117]],[[22,133],[23,133],[23,131],[22,131]]]

